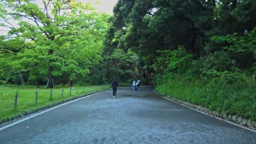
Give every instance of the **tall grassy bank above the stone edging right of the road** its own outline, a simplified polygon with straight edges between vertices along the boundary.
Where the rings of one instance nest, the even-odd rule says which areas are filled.
[[[225,81],[222,81],[223,78]],[[228,78],[205,80],[170,74],[162,84],[156,86],[156,90],[212,111],[256,120],[255,83],[247,83],[231,76]],[[230,78],[233,80],[229,81]]]

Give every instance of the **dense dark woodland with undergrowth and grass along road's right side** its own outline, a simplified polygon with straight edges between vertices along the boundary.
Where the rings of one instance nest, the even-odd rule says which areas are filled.
[[[142,78],[169,97],[255,120],[255,7],[254,0],[119,0],[103,49],[104,62],[117,65],[106,76]]]

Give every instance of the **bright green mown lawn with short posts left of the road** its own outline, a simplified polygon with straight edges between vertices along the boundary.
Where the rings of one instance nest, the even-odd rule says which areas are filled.
[[[22,114],[28,110],[36,110],[38,108],[52,105],[53,103],[65,101],[70,98],[78,97],[79,95],[84,95],[86,93],[101,91],[109,89],[109,86],[97,86],[97,90],[95,90],[95,86],[89,86],[89,91],[87,91],[87,86],[84,86],[84,92],[82,92],[82,86],[74,86],[75,89],[71,90],[66,87],[63,88],[63,97],[61,95],[62,88],[60,89],[52,89],[52,98],[50,99],[50,89],[44,88],[24,88],[24,87],[12,87],[12,86],[4,86],[0,88],[0,121],[2,119],[8,119],[10,117],[15,117],[17,114]],[[76,90],[78,88],[78,93]],[[37,95],[37,103],[35,103],[35,95],[36,91]],[[15,93],[18,94],[17,107],[14,108],[14,99]]]

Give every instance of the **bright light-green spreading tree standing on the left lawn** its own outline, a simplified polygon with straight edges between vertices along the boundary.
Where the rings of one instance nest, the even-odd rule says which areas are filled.
[[[1,5],[6,8],[1,14],[2,25],[10,28],[6,38],[30,43],[18,53],[18,62],[30,66],[30,78],[36,79],[36,74],[47,69],[49,87],[54,87],[54,76],[66,74],[72,85],[77,77],[89,74],[88,65],[101,60],[108,15],[93,12],[90,4],[20,0],[2,1]],[[17,20],[18,26],[3,13]]]

